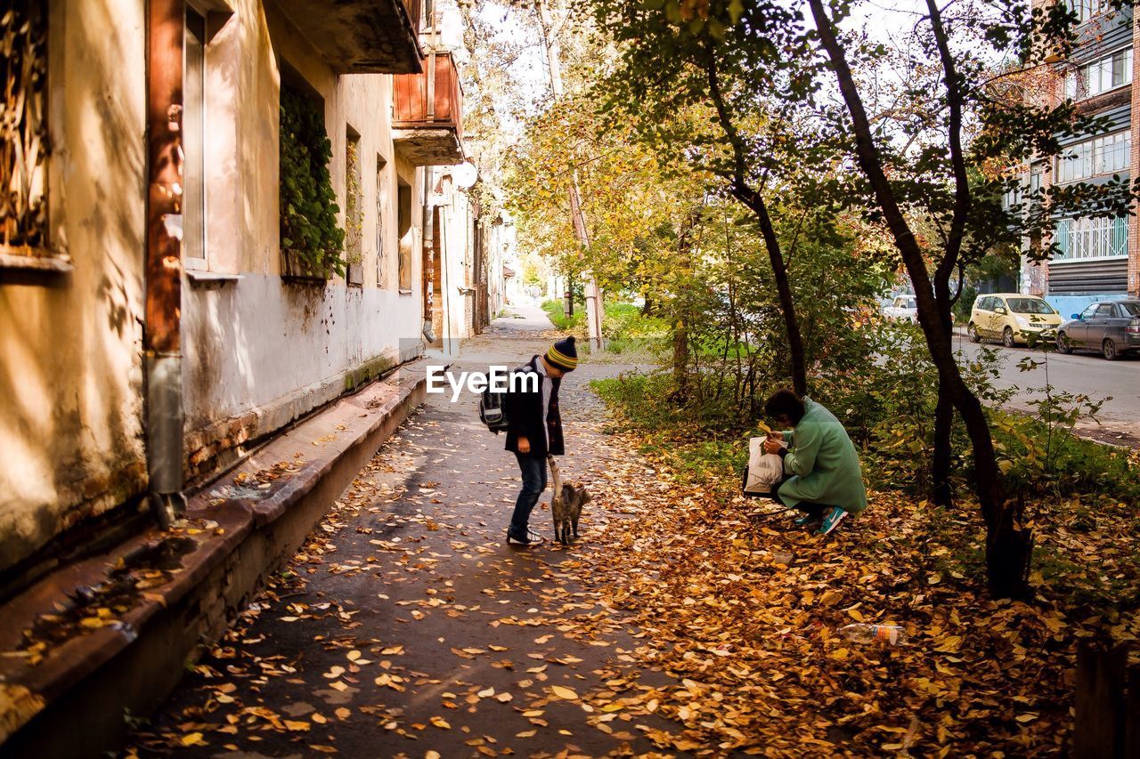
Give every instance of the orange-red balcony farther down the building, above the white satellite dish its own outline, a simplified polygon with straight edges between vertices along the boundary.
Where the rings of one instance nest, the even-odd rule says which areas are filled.
[[[392,79],[392,140],[417,166],[463,161],[463,88],[450,52],[430,52],[424,73]]]

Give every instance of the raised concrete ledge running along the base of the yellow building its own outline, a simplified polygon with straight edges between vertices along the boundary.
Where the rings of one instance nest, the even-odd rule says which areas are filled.
[[[119,615],[119,625],[80,634],[30,664],[18,653],[38,615],[71,604],[70,595],[108,580],[124,557],[162,546],[147,531],[112,552],[63,568],[0,607],[0,745],[5,757],[97,757],[121,745],[127,715],[161,705],[201,647],[218,638],[262,578],[303,544],[333,500],[425,399],[426,361],[342,398],[267,443],[217,482],[194,493],[181,569]],[[288,471],[262,495],[226,498],[245,474]],[[222,497],[219,497],[221,495]],[[217,523],[217,527],[213,527]],[[206,525],[205,529],[202,529]],[[190,545],[190,544],[187,544]]]

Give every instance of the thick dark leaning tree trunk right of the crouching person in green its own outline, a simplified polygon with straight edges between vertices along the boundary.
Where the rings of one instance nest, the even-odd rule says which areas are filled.
[[[898,205],[894,188],[890,186],[882,169],[882,162],[878,148],[874,145],[873,132],[863,106],[863,100],[855,84],[850,66],[842,47],[836,38],[836,31],[831,19],[823,9],[822,0],[808,0],[812,15],[815,18],[815,26],[820,35],[820,41],[831,65],[836,72],[844,101],[847,104],[848,114],[852,117],[852,129],[855,136],[855,148],[860,168],[866,174],[876,201],[883,212],[890,234],[895,239],[895,245],[906,264],[906,270],[914,285],[914,299],[918,304],[919,324],[926,336],[930,358],[938,369],[938,382],[950,395],[962,415],[966,430],[969,433],[974,448],[974,474],[975,489],[982,507],[982,516],[986,523],[986,571],[991,593],[999,597],[1018,597],[1028,593],[1028,568],[1029,555],[1032,553],[1033,540],[1031,533],[1016,528],[1017,514],[1011,505],[1005,500],[1001,487],[1001,473],[997,468],[997,458],[994,451],[993,439],[990,434],[990,425],[986,421],[985,411],[980,401],[970,392],[970,389],[962,379],[954,360],[953,343],[948,330],[943,326],[942,313],[948,316],[948,301],[945,307],[936,300],[930,277],[927,275],[926,262],[922,258],[922,250],[914,239],[906,222],[903,211]],[[937,8],[933,16],[937,17]],[[945,50],[944,31],[940,24],[934,24],[935,35],[939,39],[939,48]],[[948,54],[944,52],[944,64],[946,65],[946,85],[948,90],[948,105],[952,111],[961,108],[961,100],[956,97],[956,75],[950,63]],[[960,123],[958,124],[960,128]],[[954,124],[951,124],[952,142],[960,139],[955,134]],[[952,152],[954,145],[952,144]],[[961,145],[958,144],[960,152]],[[956,172],[955,172],[956,173]],[[958,193],[968,193],[968,187],[959,183]],[[963,205],[968,205],[969,198],[959,204],[955,209],[955,227],[960,221],[958,211]],[[959,234],[961,228],[959,227]],[[951,239],[947,245],[947,254],[961,247],[961,238],[956,243]],[[956,256],[955,256],[956,259]],[[953,270],[953,267],[951,267]]]

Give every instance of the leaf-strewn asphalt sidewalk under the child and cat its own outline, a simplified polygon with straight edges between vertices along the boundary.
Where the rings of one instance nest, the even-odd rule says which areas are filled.
[[[538,309],[519,313],[465,344],[455,370],[515,366],[557,335]],[[568,376],[569,479],[628,473],[632,485],[656,487],[596,423],[589,379],[626,368],[586,364]],[[612,550],[600,529],[625,519],[625,495],[596,492],[571,548],[508,548],[514,458],[479,423],[474,398],[448,398],[430,395],[360,472],[294,560],[295,576],[238,620],[132,750],[234,759],[656,750],[645,732],[669,724],[619,693],[630,679],[668,678],[628,669],[637,630],[580,582]],[[531,524],[551,537],[548,500],[547,491]],[[612,702],[598,708],[606,688]]]

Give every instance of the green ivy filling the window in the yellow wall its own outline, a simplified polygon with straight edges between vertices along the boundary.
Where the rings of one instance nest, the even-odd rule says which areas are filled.
[[[344,276],[344,230],[328,162],[333,144],[311,98],[282,85],[282,248],[294,251],[311,274]]]

